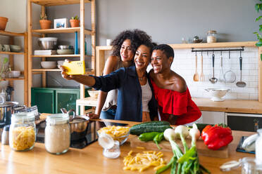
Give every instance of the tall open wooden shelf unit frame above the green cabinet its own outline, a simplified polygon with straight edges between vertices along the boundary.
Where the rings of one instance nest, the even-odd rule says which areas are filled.
[[[85,3],[91,4],[91,23],[92,29],[85,29]],[[29,69],[29,81],[28,81],[28,98],[29,105],[31,105],[31,87],[32,87],[32,75],[42,74],[42,86],[46,86],[46,72],[47,71],[60,71],[60,69],[32,69],[32,58],[41,58],[44,61],[46,58],[80,58],[85,60],[85,57],[91,57],[92,70],[87,71],[86,74],[96,73],[96,20],[95,20],[95,0],[27,0],[27,25],[28,25],[28,69]],[[38,4],[41,6],[41,14],[44,15],[46,6],[61,6],[68,4],[80,4],[80,27],[68,27],[59,29],[32,29],[32,4]],[[32,36],[44,36],[44,34],[58,34],[58,33],[74,33],[80,34],[80,55],[32,55]],[[90,35],[92,39],[92,55],[85,55],[85,34]],[[80,98],[85,98],[85,86],[80,84]],[[81,107],[81,114],[84,113],[85,107]]]

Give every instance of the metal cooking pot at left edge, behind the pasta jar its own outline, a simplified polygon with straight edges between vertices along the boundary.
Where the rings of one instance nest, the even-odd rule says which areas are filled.
[[[11,124],[11,115],[14,113],[13,107],[16,105],[18,105],[18,102],[4,102],[0,104],[0,123]]]

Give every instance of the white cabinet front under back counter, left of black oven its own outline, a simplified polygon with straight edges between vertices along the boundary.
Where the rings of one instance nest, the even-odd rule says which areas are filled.
[[[203,116],[203,123],[216,124],[225,123],[225,112],[208,112],[201,111]]]

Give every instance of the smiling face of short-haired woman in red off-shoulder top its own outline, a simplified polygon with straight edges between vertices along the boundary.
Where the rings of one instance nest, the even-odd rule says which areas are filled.
[[[173,58],[166,57],[166,54],[161,50],[154,50],[151,56],[151,65],[154,73],[161,73],[165,69],[170,69],[170,65],[173,62]]]

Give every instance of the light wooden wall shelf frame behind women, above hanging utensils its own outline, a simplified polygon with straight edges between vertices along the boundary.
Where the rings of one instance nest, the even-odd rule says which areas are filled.
[[[199,44],[169,44],[173,49],[191,48],[234,48],[234,47],[256,47],[257,41],[237,41],[237,42],[218,42],[218,43],[199,43]],[[258,47],[257,47],[258,48]],[[112,46],[96,46],[96,76],[103,73],[105,61],[105,51],[111,51]],[[262,47],[258,48],[258,102],[262,102],[262,61],[260,55]]]

